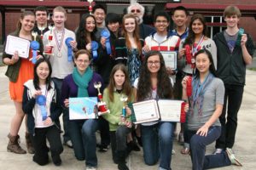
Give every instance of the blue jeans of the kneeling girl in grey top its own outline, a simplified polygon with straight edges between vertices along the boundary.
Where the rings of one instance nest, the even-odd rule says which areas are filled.
[[[200,136],[196,134],[196,131],[188,130],[189,141],[190,141],[190,151],[192,160],[193,170],[204,169],[204,161],[206,155],[206,147],[208,144],[212,144],[216,139],[218,139],[221,133],[221,127],[209,127],[207,136]]]

